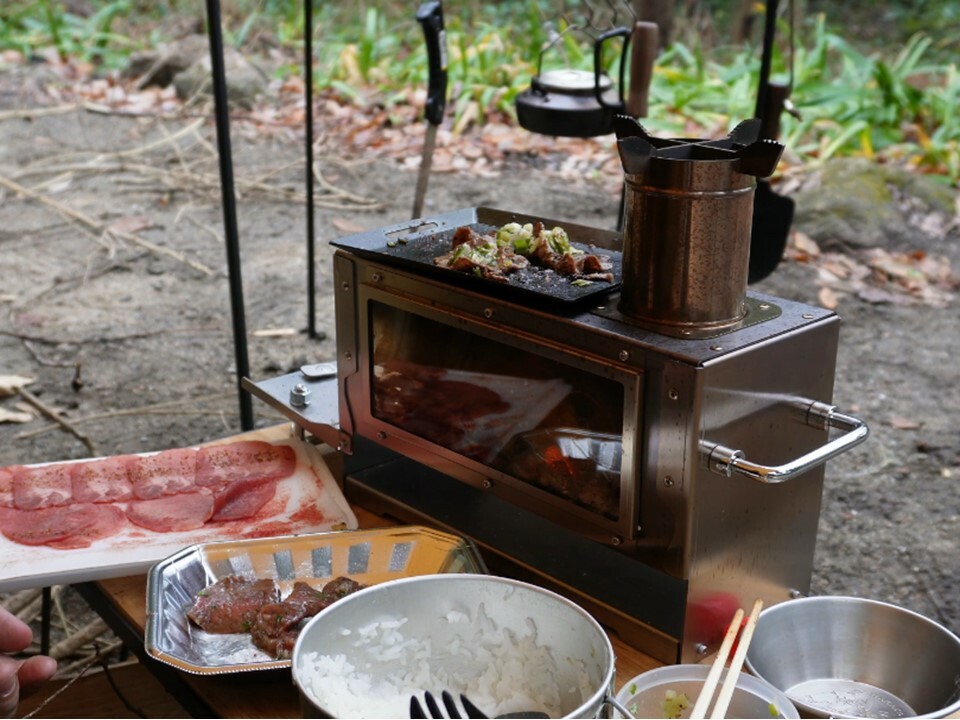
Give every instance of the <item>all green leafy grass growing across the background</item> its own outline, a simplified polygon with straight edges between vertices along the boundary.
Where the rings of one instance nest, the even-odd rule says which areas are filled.
[[[559,0],[446,3],[455,127],[514,115],[516,96],[529,85],[541,49],[551,39],[556,42],[543,53],[544,70],[592,67],[591,39],[567,28],[557,11],[561,5]],[[425,86],[427,79],[416,6],[399,0],[315,4],[317,89],[358,105],[410,102],[409,90]],[[843,9],[843,27],[851,33],[857,32],[857,20],[869,26],[877,17],[874,24],[899,27],[907,17],[904,3],[889,2],[875,16],[870,7],[854,6],[859,7],[854,2]],[[64,58],[116,68],[130,50],[156,42],[156,28],[165,21],[203,13],[202,4],[184,0],[94,0],[94,8],[89,17],[78,17],[58,0],[7,0],[0,7],[0,48],[29,55],[52,47]],[[289,54],[289,64],[279,72],[301,72],[301,4],[236,0],[223,11],[228,43],[252,52],[269,36]],[[960,12],[943,0],[923,0],[918,11],[938,23],[928,26],[940,28],[949,27]],[[691,37],[690,32],[677,35]],[[786,35],[781,27],[779,37]],[[788,156],[802,163],[837,155],[895,159],[960,184],[958,41],[923,31],[882,45],[861,39],[845,39],[823,15],[806,18],[798,31],[792,93],[799,117],[785,115],[782,122]],[[608,45],[605,66],[615,70],[618,48]],[[675,43],[658,58],[644,124],[654,132],[683,136],[725,133],[753,115],[758,69],[759,51],[753,46],[707,51]],[[773,69],[775,78],[787,79],[785,57],[778,55]]]

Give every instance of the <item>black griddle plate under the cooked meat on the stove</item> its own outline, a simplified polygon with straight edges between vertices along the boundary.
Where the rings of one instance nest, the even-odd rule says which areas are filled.
[[[457,228],[468,226],[478,233],[495,232],[510,222],[540,221],[547,228],[562,227],[571,244],[604,258],[612,267],[613,282],[594,281],[589,285],[574,285],[571,278],[552,270],[531,266],[510,273],[506,282],[488,280],[469,273],[451,270],[434,263],[434,258],[450,252],[451,240]],[[577,225],[562,220],[521,215],[493,208],[464,208],[433,217],[410,220],[399,225],[370,230],[334,240],[335,247],[343,248],[388,265],[406,267],[458,287],[470,288],[488,295],[512,297],[518,301],[540,301],[576,305],[596,300],[620,287],[623,257],[621,238],[616,232]]]

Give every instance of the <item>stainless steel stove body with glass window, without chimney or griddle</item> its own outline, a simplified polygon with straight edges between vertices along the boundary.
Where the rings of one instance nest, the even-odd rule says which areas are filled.
[[[469,535],[666,662],[808,590],[823,463],[867,432],[829,406],[835,314],[749,294],[735,327],[669,337],[615,291],[540,304],[356,248],[334,270],[335,385],[249,387],[342,451],[348,497]]]

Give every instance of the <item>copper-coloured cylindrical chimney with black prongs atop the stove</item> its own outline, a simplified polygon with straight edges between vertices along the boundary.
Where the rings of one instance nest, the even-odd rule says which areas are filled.
[[[756,178],[783,146],[745,120],[719,140],[658,139],[615,119],[623,163],[620,312],[669,335],[704,337],[745,314]]]

